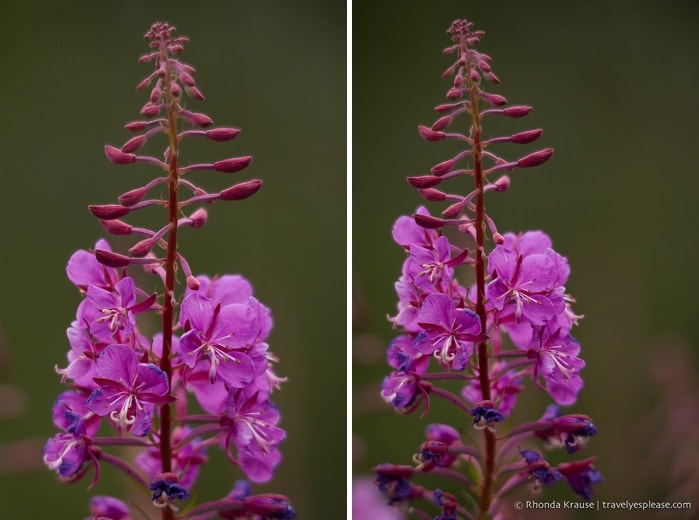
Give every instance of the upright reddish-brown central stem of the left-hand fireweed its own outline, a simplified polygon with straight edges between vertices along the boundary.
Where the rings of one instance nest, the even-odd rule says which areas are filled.
[[[168,70],[168,74],[169,74]],[[160,369],[167,374],[168,385],[172,385],[172,365],[170,356],[172,352],[172,324],[175,307],[175,278],[177,261],[177,218],[179,216],[178,205],[178,140],[177,140],[177,113],[176,99],[170,89],[170,82],[164,81],[165,99],[167,100],[168,114],[168,222],[170,231],[167,237],[167,256],[165,259],[165,295],[163,297],[163,354],[160,359]],[[172,471],[172,415],[169,403],[160,407],[160,466],[163,473]],[[163,508],[162,520],[174,519],[174,513],[170,508]]]

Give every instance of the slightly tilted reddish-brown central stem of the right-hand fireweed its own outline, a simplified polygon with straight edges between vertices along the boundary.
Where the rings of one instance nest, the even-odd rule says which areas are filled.
[[[467,60],[467,70],[473,66],[468,52],[464,52]],[[473,178],[476,184],[476,314],[481,320],[482,332],[485,333],[487,315],[485,311],[485,175],[483,173],[483,146],[481,144],[481,122],[478,108],[478,84],[468,79],[471,105],[471,120],[473,139]],[[478,344],[478,377],[483,394],[483,400],[490,400],[490,373],[488,363],[488,344],[481,341]],[[495,466],[495,435],[487,428],[485,435],[485,467],[483,483],[479,500],[479,517],[485,518],[490,508]]]

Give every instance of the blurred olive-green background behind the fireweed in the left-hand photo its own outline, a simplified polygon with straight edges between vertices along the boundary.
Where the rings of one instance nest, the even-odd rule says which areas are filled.
[[[346,490],[347,69],[346,7],[319,0],[2,3],[0,518],[78,519],[89,495],[128,493],[109,467],[92,492],[89,478],[61,485],[40,458],[63,390],[54,365],[66,364],[79,301],[65,264],[103,235],[87,205],[114,202],[156,173],[103,152],[130,137],[123,125],[147,99],[135,86],[151,66],[137,59],[155,21],[190,37],[181,58],[207,99],[189,106],[243,131],[232,143],[185,141],[184,160],[251,154],[235,179],[265,181],[254,198],[215,204],[203,229],[182,233],[195,273],[242,273],[272,309],[271,350],[289,378],[273,399],[288,437],[274,482],[255,490],[288,495],[300,518],[327,518],[344,510]],[[212,189],[235,179],[197,174]],[[145,218],[162,225],[157,210]],[[219,460],[203,471],[201,499],[240,476],[210,455]]]

